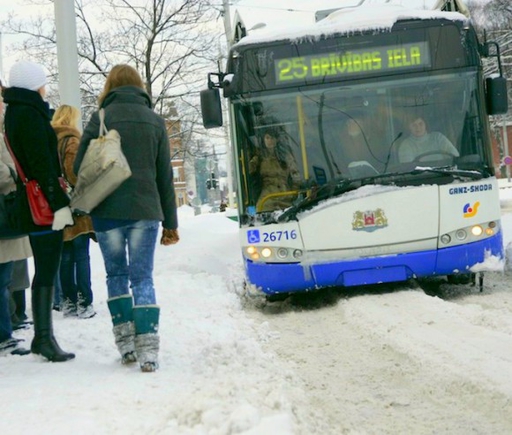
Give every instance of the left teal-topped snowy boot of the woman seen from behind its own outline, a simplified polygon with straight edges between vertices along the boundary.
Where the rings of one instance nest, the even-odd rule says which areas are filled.
[[[135,353],[135,326],[133,323],[132,295],[122,295],[107,300],[108,309],[112,316],[114,339],[117,350],[121,354],[122,364],[137,361]]]

